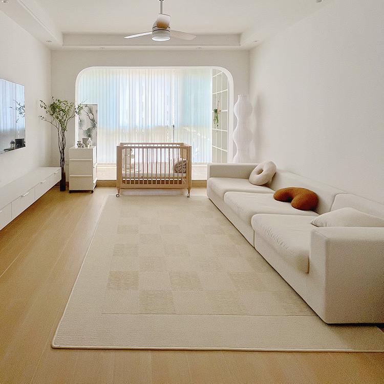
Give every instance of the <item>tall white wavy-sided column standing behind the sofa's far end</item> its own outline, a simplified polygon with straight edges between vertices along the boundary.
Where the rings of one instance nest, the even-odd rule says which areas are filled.
[[[236,129],[233,131],[233,141],[237,148],[233,162],[246,163],[249,158],[249,144],[252,141],[252,133],[248,127],[252,105],[248,100],[248,95],[239,95],[238,101],[233,106],[233,112],[238,119]]]

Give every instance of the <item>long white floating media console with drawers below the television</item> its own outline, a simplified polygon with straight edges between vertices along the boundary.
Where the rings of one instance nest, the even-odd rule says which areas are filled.
[[[58,167],[40,167],[0,188],[0,229],[61,179]]]

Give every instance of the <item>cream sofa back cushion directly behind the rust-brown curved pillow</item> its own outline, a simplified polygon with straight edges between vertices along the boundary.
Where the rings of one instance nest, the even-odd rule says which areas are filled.
[[[318,204],[315,212],[319,215],[329,212],[335,196],[344,193],[343,190],[331,187],[330,185],[307,179],[306,177],[298,176],[287,170],[281,169],[278,169],[268,186],[273,190],[288,187],[301,187],[313,190],[318,197]]]

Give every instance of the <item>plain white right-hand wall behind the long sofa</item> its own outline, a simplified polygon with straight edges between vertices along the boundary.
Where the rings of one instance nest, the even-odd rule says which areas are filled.
[[[333,0],[251,51],[256,160],[384,203],[383,20]]]

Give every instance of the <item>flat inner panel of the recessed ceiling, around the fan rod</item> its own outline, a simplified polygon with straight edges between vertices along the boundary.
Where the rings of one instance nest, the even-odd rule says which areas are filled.
[[[38,0],[63,33],[150,31],[159,0]],[[315,0],[164,0],[173,29],[195,34],[242,33],[276,20],[300,19]]]

